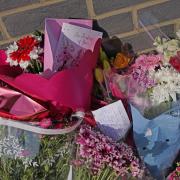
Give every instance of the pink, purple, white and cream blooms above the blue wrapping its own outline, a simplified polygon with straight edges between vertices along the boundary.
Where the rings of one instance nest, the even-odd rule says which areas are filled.
[[[157,37],[156,53],[142,54],[125,75],[115,76],[121,92],[143,116],[152,119],[179,101],[180,37]]]

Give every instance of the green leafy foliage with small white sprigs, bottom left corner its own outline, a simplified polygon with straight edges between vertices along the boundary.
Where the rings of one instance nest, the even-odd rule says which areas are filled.
[[[6,132],[6,129],[1,128],[0,137]],[[0,180],[65,180],[69,173],[73,140],[74,133],[45,135],[40,139],[39,154],[33,159],[1,155]]]

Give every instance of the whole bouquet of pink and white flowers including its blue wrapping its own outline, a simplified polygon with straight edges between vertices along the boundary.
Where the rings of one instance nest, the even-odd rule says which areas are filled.
[[[109,84],[114,96],[130,102],[137,151],[162,179],[180,149],[179,31],[174,39],[155,38],[154,45],[156,51],[138,55],[126,71],[111,73]]]

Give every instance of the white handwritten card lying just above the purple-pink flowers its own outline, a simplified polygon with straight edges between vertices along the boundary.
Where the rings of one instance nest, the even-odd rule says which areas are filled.
[[[131,127],[126,110],[119,100],[92,111],[100,130],[115,141],[122,139]]]

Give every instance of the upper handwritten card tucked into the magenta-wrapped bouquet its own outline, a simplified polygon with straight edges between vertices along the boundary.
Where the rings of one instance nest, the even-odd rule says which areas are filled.
[[[102,32],[63,23],[53,69],[61,70],[78,66],[85,51],[93,51],[99,38],[102,38]]]

